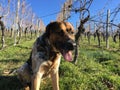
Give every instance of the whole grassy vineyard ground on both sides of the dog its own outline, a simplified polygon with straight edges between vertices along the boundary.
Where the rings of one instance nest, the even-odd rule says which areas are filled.
[[[21,41],[13,46],[12,39],[7,39],[7,47],[0,51],[0,90],[22,90],[16,74],[6,74],[9,70],[20,67],[30,55],[35,39]],[[110,39],[110,42],[112,40]],[[120,49],[118,43],[105,43],[97,46],[92,40],[80,42],[80,54],[77,65],[62,59],[60,64],[60,90],[120,90]],[[51,80],[42,81],[40,90],[52,90]]]

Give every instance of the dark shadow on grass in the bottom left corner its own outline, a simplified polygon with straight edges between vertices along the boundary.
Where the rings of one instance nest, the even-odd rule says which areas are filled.
[[[0,90],[23,90],[17,76],[0,76]]]

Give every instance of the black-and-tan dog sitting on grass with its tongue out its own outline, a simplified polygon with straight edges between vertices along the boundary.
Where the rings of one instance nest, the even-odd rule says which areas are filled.
[[[17,70],[25,90],[39,90],[41,79],[48,75],[51,76],[53,90],[59,90],[61,56],[71,62],[75,46],[75,30],[71,23],[49,23],[45,33],[36,39],[28,61]]]

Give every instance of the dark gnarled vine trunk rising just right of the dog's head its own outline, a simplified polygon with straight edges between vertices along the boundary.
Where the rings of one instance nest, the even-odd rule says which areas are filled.
[[[76,48],[75,48],[75,56],[74,56],[74,63],[77,63],[77,57],[79,55],[78,51],[79,51],[79,41],[80,41],[80,37],[81,34],[85,31],[84,28],[84,24],[89,20],[90,17],[90,12],[89,12],[89,7],[92,3],[93,0],[76,0],[80,3],[80,8],[79,9],[75,9],[75,12],[79,12],[80,13],[80,25],[78,27],[78,32],[75,35],[75,41],[76,41]],[[86,15],[87,14],[87,15]]]

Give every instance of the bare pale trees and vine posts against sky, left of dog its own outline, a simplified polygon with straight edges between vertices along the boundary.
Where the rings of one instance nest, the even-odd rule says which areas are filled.
[[[44,31],[43,21],[33,12],[26,0],[0,0],[0,33],[1,44],[6,46],[6,36],[14,39],[14,45],[19,44],[22,36],[37,37]],[[30,35],[28,35],[30,34]]]

